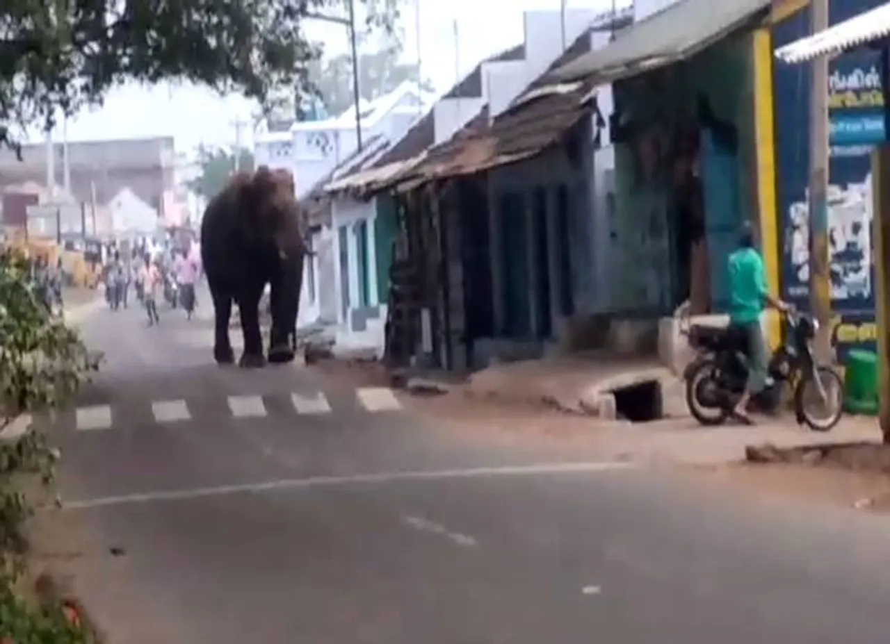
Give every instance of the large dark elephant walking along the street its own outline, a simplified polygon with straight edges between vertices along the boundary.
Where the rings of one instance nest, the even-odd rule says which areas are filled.
[[[292,334],[303,287],[303,213],[294,179],[286,170],[260,166],[236,173],[207,204],[201,221],[201,261],[214,304],[214,360],[232,364],[229,340],[232,303],[239,307],[244,352],[239,366],[266,364],[259,304],[270,286],[269,361],[295,357]]]

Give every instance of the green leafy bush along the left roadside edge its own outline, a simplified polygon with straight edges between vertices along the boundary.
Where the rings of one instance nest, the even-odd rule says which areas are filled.
[[[96,367],[77,332],[44,306],[29,273],[20,254],[0,254],[0,431],[46,415]],[[25,570],[24,527],[32,513],[21,479],[36,475],[48,485],[58,457],[34,425],[18,438],[0,438],[0,642],[89,641],[61,606],[31,607],[14,592]]]

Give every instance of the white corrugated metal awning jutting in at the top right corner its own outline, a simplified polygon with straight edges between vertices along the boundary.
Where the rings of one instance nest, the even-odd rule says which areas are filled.
[[[890,36],[890,3],[786,44],[776,50],[776,58],[789,63],[806,62],[855,49],[886,36]]]

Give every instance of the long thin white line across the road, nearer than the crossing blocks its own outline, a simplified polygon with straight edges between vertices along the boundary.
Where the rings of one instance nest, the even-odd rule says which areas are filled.
[[[264,483],[197,487],[188,490],[145,492],[133,495],[99,496],[64,503],[69,510],[85,510],[109,505],[132,505],[161,501],[187,501],[207,496],[227,496],[258,492],[311,490],[316,487],[360,487],[387,483],[436,481],[448,479],[496,479],[499,477],[558,476],[562,474],[596,474],[635,469],[634,463],[610,461],[603,463],[538,463],[506,467],[477,467],[465,470],[384,471],[352,476],[317,476],[305,479],[279,479]]]

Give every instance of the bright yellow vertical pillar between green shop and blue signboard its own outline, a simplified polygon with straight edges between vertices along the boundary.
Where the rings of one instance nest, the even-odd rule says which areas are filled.
[[[751,37],[754,62],[754,131],[756,155],[757,213],[760,251],[766,267],[770,295],[780,297],[780,219],[776,203],[776,153],[773,111],[773,34],[758,28]],[[766,338],[775,349],[781,342],[781,318],[767,310]]]

